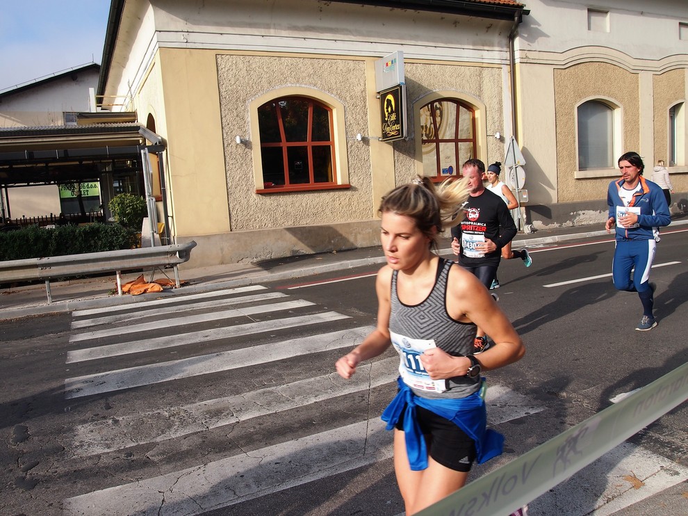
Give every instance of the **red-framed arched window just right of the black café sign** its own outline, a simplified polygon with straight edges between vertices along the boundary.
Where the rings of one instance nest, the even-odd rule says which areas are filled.
[[[457,99],[436,99],[420,108],[423,175],[445,179],[477,156],[475,109]]]

